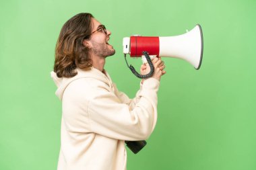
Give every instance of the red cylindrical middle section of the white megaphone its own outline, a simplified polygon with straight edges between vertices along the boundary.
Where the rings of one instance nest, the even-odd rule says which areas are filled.
[[[159,37],[158,36],[131,36],[130,56],[141,56],[143,51],[149,55],[159,56]]]

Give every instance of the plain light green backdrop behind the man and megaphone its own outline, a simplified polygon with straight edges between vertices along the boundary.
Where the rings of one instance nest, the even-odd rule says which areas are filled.
[[[176,36],[203,29],[201,69],[162,58],[158,122],[127,169],[256,169],[256,1],[0,2],[0,169],[57,169],[61,102],[50,77],[63,24],[90,12],[112,32],[105,69],[134,97],[139,79],[123,58],[123,37]],[[128,58],[139,69],[141,60]]]

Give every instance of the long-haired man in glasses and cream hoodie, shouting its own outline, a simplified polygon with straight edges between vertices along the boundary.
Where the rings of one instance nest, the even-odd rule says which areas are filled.
[[[129,99],[104,70],[105,58],[115,54],[110,34],[90,13],[71,17],[61,29],[51,73],[62,101],[58,170],[126,169],[125,140],[146,140],[156,125],[164,63],[152,60],[154,75]],[[148,70],[141,66],[142,74]]]

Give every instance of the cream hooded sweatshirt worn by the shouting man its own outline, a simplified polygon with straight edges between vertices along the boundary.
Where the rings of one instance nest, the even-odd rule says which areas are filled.
[[[129,99],[93,67],[72,78],[53,71],[51,77],[62,101],[58,170],[126,169],[125,140],[146,140],[156,125],[159,81],[146,79]]]

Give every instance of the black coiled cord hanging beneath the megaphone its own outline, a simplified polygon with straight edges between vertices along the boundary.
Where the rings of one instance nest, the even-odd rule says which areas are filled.
[[[150,59],[150,56],[148,55],[148,52],[143,51],[144,56],[146,57],[147,61],[148,61],[148,65],[150,65],[150,73],[148,73],[147,75],[140,75],[139,73],[137,73],[137,71],[135,71],[134,67],[132,65],[128,65],[128,62],[126,60],[126,54],[125,54],[125,61],[127,64],[127,67],[129,67],[129,69],[131,70],[131,72],[133,73],[133,75],[135,75],[136,77],[138,77],[139,79],[148,79],[150,77],[152,77],[153,73],[154,73],[154,65]]]

